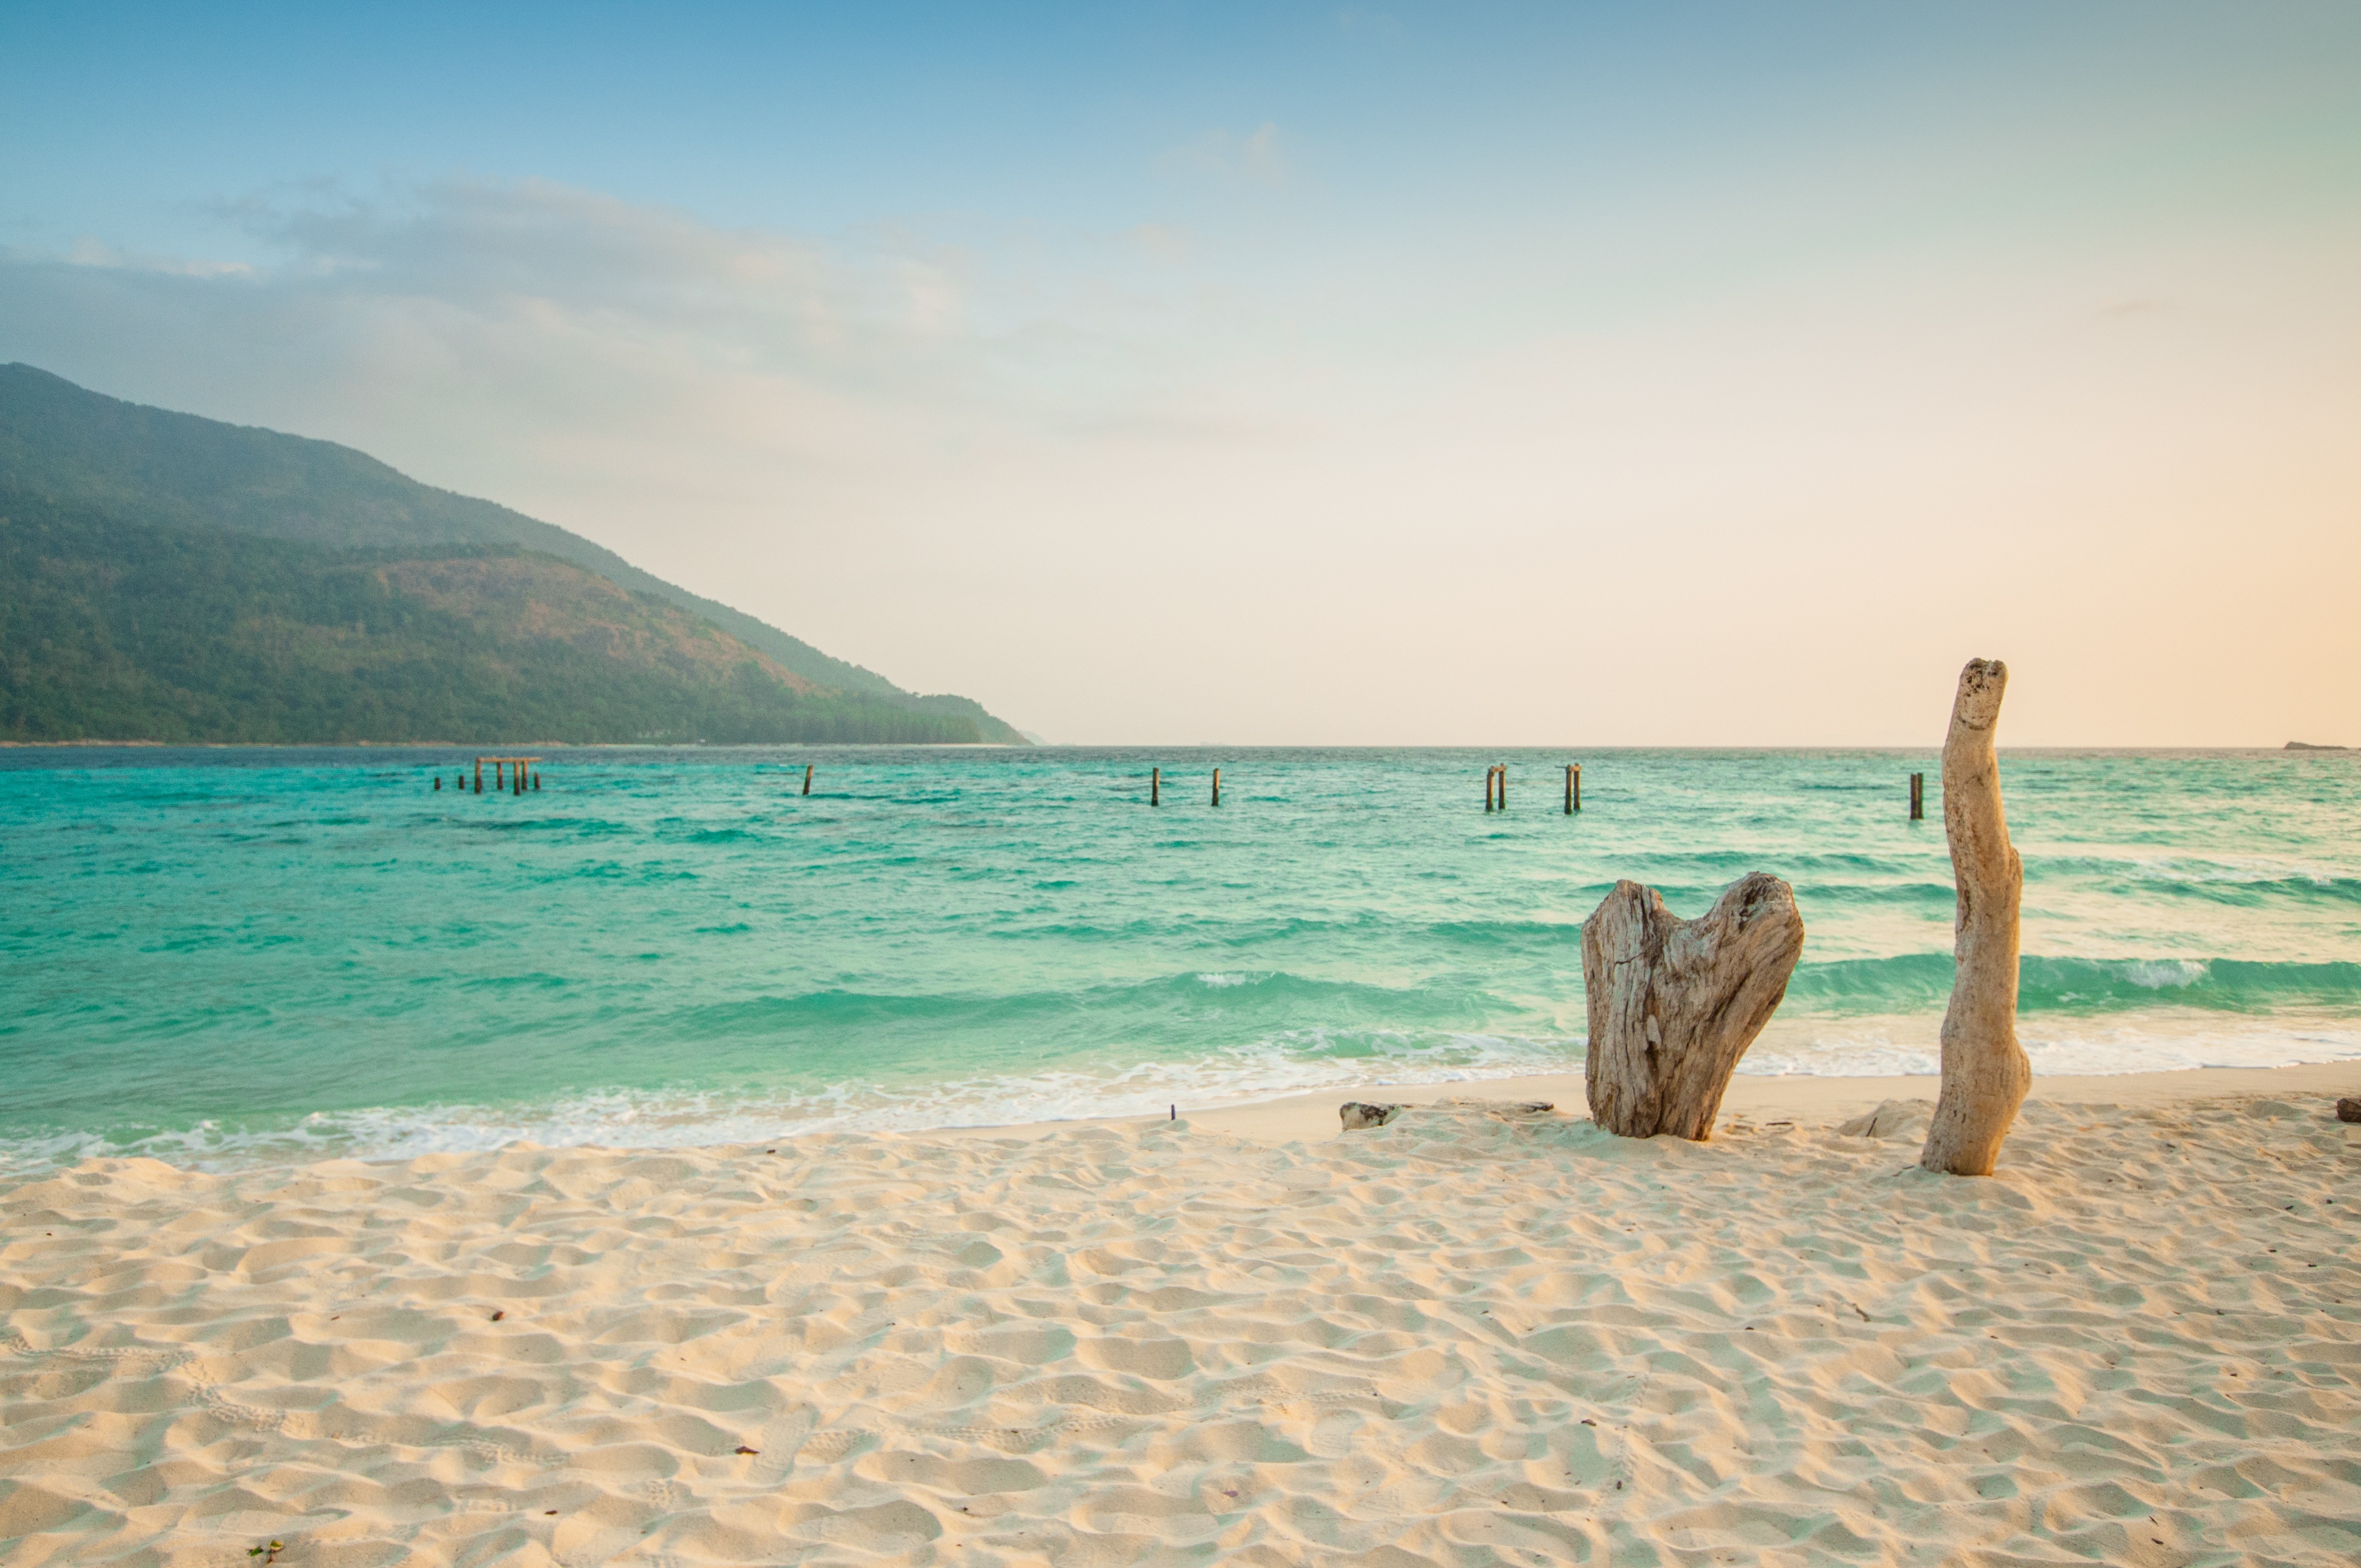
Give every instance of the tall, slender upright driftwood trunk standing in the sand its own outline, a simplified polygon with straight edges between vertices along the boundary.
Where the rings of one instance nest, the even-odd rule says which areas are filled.
[[[2016,1044],[2016,904],[2026,862],[2000,810],[2000,694],[2009,666],[1969,659],[1943,739],[1943,834],[1960,883],[1953,921],[1950,1008],[1943,1013],[1943,1091],[1919,1164],[1953,1176],[1990,1176],[2000,1141],[2033,1086]]]

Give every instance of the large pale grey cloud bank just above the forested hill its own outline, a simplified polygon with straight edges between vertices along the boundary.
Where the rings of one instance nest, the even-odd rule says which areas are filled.
[[[892,229],[725,229],[550,182],[307,191],[231,217],[272,260],[0,253],[0,328],[50,364],[132,361],[116,385],[179,406],[222,409],[234,385],[262,406],[227,413],[364,446],[399,451],[408,425],[446,458],[647,446],[647,470],[713,430],[841,458],[918,411],[992,416],[1039,387],[977,328],[970,257]]]

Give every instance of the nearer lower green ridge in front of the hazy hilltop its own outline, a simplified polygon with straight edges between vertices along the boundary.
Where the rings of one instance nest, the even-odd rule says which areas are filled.
[[[323,550],[7,503],[0,737],[973,741],[519,550]]]

